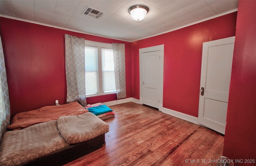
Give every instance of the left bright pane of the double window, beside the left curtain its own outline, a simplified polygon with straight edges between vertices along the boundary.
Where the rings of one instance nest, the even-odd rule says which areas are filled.
[[[97,47],[85,47],[85,87],[86,95],[98,93]]]

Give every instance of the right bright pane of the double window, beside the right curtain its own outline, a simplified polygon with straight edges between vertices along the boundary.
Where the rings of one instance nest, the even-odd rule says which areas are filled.
[[[116,91],[113,49],[102,48],[103,91]]]

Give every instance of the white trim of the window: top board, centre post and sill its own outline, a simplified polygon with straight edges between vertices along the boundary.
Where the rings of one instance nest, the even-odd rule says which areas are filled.
[[[102,96],[108,94],[114,94],[116,91],[104,93],[103,91],[103,80],[102,80],[102,58],[101,58],[101,48],[113,49],[112,43],[101,43],[96,41],[84,40],[85,46],[97,47],[98,48],[98,90],[99,92],[92,95],[86,95],[86,97]],[[99,72],[100,71],[100,72]],[[86,80],[85,80],[86,81]]]

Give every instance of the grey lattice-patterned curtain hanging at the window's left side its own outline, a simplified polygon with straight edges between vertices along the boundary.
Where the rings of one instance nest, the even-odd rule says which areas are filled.
[[[86,106],[84,39],[65,34],[67,103]]]

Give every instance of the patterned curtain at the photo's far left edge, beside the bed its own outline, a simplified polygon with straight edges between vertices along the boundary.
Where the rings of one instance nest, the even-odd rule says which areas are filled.
[[[2,134],[6,132],[6,126],[10,124],[10,101],[4,63],[4,51],[0,36],[0,142]]]

